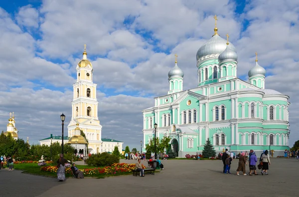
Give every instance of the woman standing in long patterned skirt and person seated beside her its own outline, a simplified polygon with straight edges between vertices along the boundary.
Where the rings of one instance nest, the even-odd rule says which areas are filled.
[[[57,160],[57,179],[59,182],[62,182],[65,180],[65,164],[68,163],[68,161],[63,158],[63,154],[60,154],[59,159]],[[71,170],[73,172],[73,175],[77,178],[77,179],[83,179],[84,175],[83,172],[81,170],[79,170],[76,167],[76,164],[73,163]]]

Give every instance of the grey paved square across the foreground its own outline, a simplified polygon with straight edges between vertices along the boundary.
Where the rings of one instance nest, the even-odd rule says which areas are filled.
[[[155,175],[82,180],[68,178],[63,183],[54,178],[1,169],[1,197],[298,196],[299,161],[285,158],[271,158],[271,161],[267,176],[261,173],[259,176],[237,176],[238,160],[233,161],[230,175],[222,173],[220,160],[166,160],[162,161],[165,170]],[[132,160],[121,162],[136,163]],[[146,161],[142,163],[147,165]]]

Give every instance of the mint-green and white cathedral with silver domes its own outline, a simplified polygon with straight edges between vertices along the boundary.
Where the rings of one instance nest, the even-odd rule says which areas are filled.
[[[249,82],[237,78],[236,49],[218,35],[217,27],[214,31],[196,54],[197,87],[183,90],[184,72],[175,60],[168,93],[142,111],[145,144],[154,139],[156,123],[157,137],[170,136],[178,157],[201,153],[208,138],[216,152],[267,149],[284,155],[289,149],[289,96],[265,89],[266,70],[257,58]]]

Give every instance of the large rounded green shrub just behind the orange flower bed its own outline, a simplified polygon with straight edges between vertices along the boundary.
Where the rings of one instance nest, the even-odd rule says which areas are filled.
[[[114,163],[119,163],[120,158],[116,155],[107,152],[92,154],[87,160],[88,166],[111,166]]]

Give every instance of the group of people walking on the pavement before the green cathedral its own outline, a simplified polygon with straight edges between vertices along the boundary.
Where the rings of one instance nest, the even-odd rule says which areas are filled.
[[[247,154],[246,154],[247,153]],[[246,176],[246,165],[247,165],[247,159],[248,159],[248,164],[249,164],[249,175],[252,176],[253,173],[254,175],[258,175],[257,173],[257,162],[258,158],[256,156],[256,153],[254,150],[250,150],[248,153],[246,152],[241,152],[239,153],[239,163],[238,163],[238,168],[237,168],[237,175],[240,175],[239,172],[243,172],[243,175]],[[223,173],[224,174],[231,174],[230,172],[230,167],[232,160],[234,158],[234,154],[232,152],[228,152],[228,149],[225,149],[225,152],[222,154],[222,162],[223,162]],[[260,156],[259,159],[259,169],[261,168],[261,174],[262,175],[268,175],[268,170],[269,170],[269,165],[270,163],[270,156],[268,154],[268,150],[264,150],[263,153]]]

